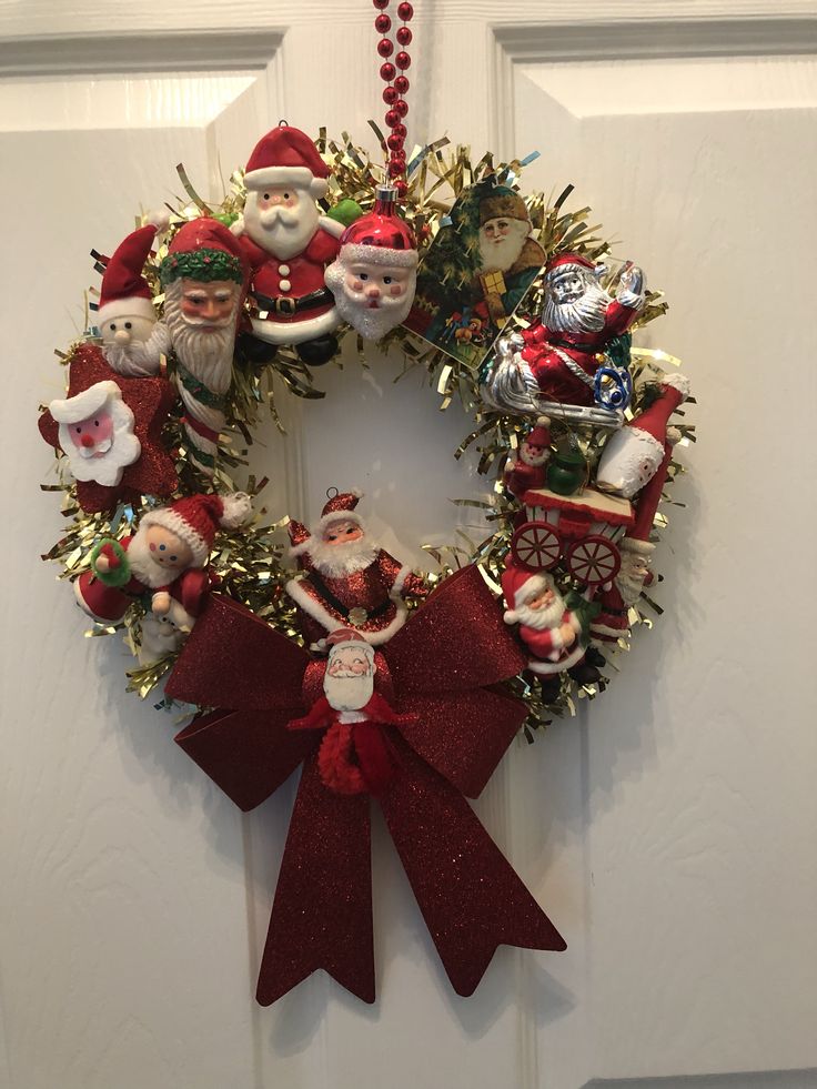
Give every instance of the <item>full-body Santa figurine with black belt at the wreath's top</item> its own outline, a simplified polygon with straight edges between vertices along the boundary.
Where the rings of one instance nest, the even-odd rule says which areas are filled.
[[[252,270],[253,333],[273,345],[268,360],[279,344],[294,344],[313,366],[337,351],[341,316],[323,276],[344,228],[315,204],[329,174],[306,133],[284,122],[259,141],[246,164],[244,214],[232,230]]]

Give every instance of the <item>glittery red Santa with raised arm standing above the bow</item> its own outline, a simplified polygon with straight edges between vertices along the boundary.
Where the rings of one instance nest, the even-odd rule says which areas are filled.
[[[420,575],[370,540],[355,511],[360,497],[335,493],[309,530],[290,522],[291,554],[304,573],[286,584],[286,593],[305,638],[319,648],[339,627],[353,627],[372,646],[386,643],[405,623],[403,598],[426,593]]]

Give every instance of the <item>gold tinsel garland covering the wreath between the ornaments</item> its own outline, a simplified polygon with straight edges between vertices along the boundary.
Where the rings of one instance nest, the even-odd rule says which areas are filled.
[[[373,122],[370,124],[385,152],[382,132]],[[373,163],[367,153],[357,148],[345,132],[342,133],[340,141],[335,141],[327,138],[325,130],[322,129],[316,145],[332,170],[330,190],[325,199],[327,209],[336,205],[340,201],[351,200],[360,204],[364,211],[369,210],[374,202],[375,185],[385,180],[383,165]],[[456,147],[451,149],[446,139],[415,150],[408,163],[408,192],[403,204],[403,212],[414,230],[421,256],[423,251],[433,242],[441,226],[448,221],[447,216],[453,203],[465,190],[488,178],[492,178],[496,184],[517,189],[523,167],[534,158],[536,158],[535,154],[529,155],[524,161],[514,160],[510,163],[494,164],[493,155],[488,153],[474,164],[468,148]],[[184,186],[185,196],[178,198],[173,205],[168,205],[171,212],[170,231],[165,236],[164,244],[157,252],[155,259],[144,270],[160,315],[163,295],[159,282],[159,266],[175,231],[184,222],[200,215],[214,215],[230,224],[241,213],[246,195],[243,185],[243,171],[235,171],[232,174],[225,196],[215,205],[202,200],[191,184],[183,165],[180,164],[176,170]],[[566,250],[583,253],[594,261],[608,256],[608,243],[598,233],[601,226],[589,225],[587,222],[589,208],[582,208],[573,212],[566,210],[565,205],[572,191],[573,186],[568,185],[553,201],[546,199],[545,194],[541,192],[525,198],[534,228],[534,238],[548,256]],[[98,271],[104,271],[104,266],[99,260],[95,266]],[[543,279],[544,276],[541,274],[533,284],[532,293],[527,296],[527,310],[531,313],[538,313],[541,310]],[[607,284],[615,279],[615,272],[609,271]],[[94,294],[98,295],[98,292],[91,290],[91,295]],[[634,324],[633,331],[644,327],[665,313],[666,309],[667,304],[660,292],[648,293],[647,305]],[[523,320],[513,320],[507,331],[513,331],[513,329],[518,329],[524,324],[526,323]],[[90,322],[88,322],[88,334],[83,340],[93,339]],[[342,330],[341,335],[344,339],[355,337],[359,359],[363,365],[366,365],[364,346],[360,336],[347,327]],[[456,567],[474,562],[481,566],[488,585],[498,593],[500,577],[514,530],[513,518],[518,513],[518,505],[506,496],[500,483],[502,470],[508,456],[516,451],[521,437],[524,437],[529,427],[529,423],[516,416],[506,416],[494,412],[481,402],[477,369],[454,360],[402,326],[387,334],[382,342],[383,349],[389,349],[395,344],[400,346],[405,359],[403,373],[422,367],[428,376],[430,384],[436,389],[441,411],[447,409],[454,399],[458,399],[466,413],[472,415],[473,430],[462,440],[454,451],[454,456],[458,458],[466,450],[474,446],[480,455],[478,472],[481,474],[496,474],[497,476],[491,502],[457,501],[462,506],[478,510],[491,527],[491,532],[478,542],[468,540],[461,531],[458,534],[460,544],[442,547],[425,545],[425,551],[438,568],[437,572],[426,576],[427,581],[432,584],[437,583]],[[72,349],[74,346],[72,345]],[[68,353],[57,352],[62,363],[70,362],[72,349]],[[634,347],[629,370],[636,390],[646,389],[650,377],[655,380],[660,375],[664,367],[674,366],[677,363],[677,360],[664,352]],[[335,365],[340,364],[336,363]],[[300,361],[292,349],[280,349],[273,362],[263,366],[252,364],[236,353],[233,383],[229,394],[225,442],[220,444],[222,453],[212,482],[203,476],[189,458],[180,417],[172,415],[167,425],[164,437],[168,448],[179,452],[176,472],[180,483],[176,493],[167,502],[172,502],[182,495],[208,491],[211,484],[216,491],[234,491],[239,486],[234,478],[236,471],[243,471],[248,466],[249,447],[252,445],[252,428],[256,425],[260,413],[269,412],[278,428],[281,432],[284,431],[278,411],[278,399],[282,389],[291,395],[307,400],[325,396],[315,386],[309,367]],[[679,414],[683,415],[683,413]],[[632,417],[632,410],[628,410],[628,415]],[[694,427],[682,424],[679,430],[683,441],[694,441]],[[571,441],[592,458],[598,442],[597,428],[594,430],[589,426],[568,428],[566,425],[556,425],[554,434],[558,438],[568,431]],[[120,506],[111,517],[85,514],[77,503],[73,482],[63,476],[64,461],[63,455],[58,452],[57,472],[60,483],[42,485],[44,491],[62,493],[62,515],[65,518],[63,536],[42,558],[57,561],[61,564],[60,578],[74,579],[88,569],[91,549],[101,537],[115,537],[124,532],[130,532],[131,524],[138,523],[140,514],[158,504],[150,497],[145,497],[141,505]],[[682,466],[673,462],[667,483],[672,483],[672,480],[682,472]],[[265,521],[263,507],[265,483],[266,481],[256,482],[252,475],[246,478],[242,490],[254,497],[254,520],[249,526],[239,531],[219,534],[209,566],[219,583],[219,592],[229,594],[242,602],[283,634],[300,641],[300,635],[294,626],[294,607],[283,589],[285,581],[291,575],[284,564],[285,534],[283,531],[288,520],[284,518],[279,523]],[[260,507],[259,498],[262,502]],[[666,516],[657,515],[656,525],[658,527],[666,525]],[[659,607],[646,595],[643,595],[643,601],[655,612],[660,612]],[[94,624],[87,632],[87,635],[110,635],[124,629],[125,642],[131,649],[135,649],[142,616],[141,606],[134,603],[128,609],[121,624]],[[641,608],[631,609],[629,618],[632,625],[646,624],[649,626],[652,623]],[[625,641],[619,641],[618,649],[626,648]],[[137,692],[142,697],[148,696],[172,668],[174,661],[175,655],[169,655],[160,662],[130,670],[128,690]],[[614,669],[616,668],[613,662],[608,661],[608,665]],[[547,725],[554,715],[575,714],[574,698],[565,684],[563,684],[558,698],[548,704],[543,703],[538,688],[528,684],[524,677],[515,678],[511,687],[514,694],[523,698],[528,706],[529,715],[525,726],[528,739],[532,738],[531,730]],[[603,680],[599,683],[598,689],[603,690],[604,687],[605,682]],[[596,694],[595,686],[585,686],[578,689],[581,698],[593,698]],[[162,707],[167,704],[162,700],[157,706]]]

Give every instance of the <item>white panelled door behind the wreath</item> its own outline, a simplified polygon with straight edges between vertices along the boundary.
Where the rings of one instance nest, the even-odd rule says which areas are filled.
[[[412,137],[538,149],[529,188],[576,185],[667,291],[650,340],[685,361],[700,442],[665,537],[664,618],[603,698],[512,747],[476,807],[567,952],[500,950],[456,998],[375,825],[377,1004],[320,975],[270,1009],[252,994],[294,784],[241,817],[172,718],[124,695],[124,652],[82,639],[37,559],[59,515],[33,420],[61,392],[53,347],[82,326],[87,251],[179,193],[176,162],[218,195],[280,118],[370,142],[374,9],[105,7],[0,12],[1,412],[21,444],[2,476],[0,1085],[817,1085],[815,516],[799,485],[816,467],[814,3],[416,0]],[[451,457],[465,419],[436,413],[416,376],[393,385],[399,367],[321,374],[327,400],[291,405],[286,443],[269,428],[256,467],[273,515],[361,485],[420,562],[421,541],[453,533],[448,498],[488,485]]]

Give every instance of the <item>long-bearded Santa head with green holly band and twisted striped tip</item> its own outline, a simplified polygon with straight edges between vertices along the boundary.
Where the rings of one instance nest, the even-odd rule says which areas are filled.
[[[218,220],[191,220],[173,238],[161,280],[191,456],[212,476],[248,282],[238,240]]]

